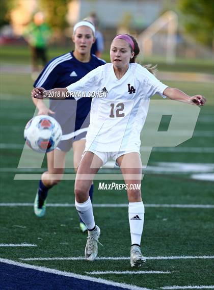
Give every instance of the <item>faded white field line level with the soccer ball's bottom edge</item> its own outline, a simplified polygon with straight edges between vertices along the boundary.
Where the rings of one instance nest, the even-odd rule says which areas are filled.
[[[21,149],[23,150],[24,144],[11,144],[11,143],[0,143],[0,149]],[[31,150],[26,147],[25,150]],[[148,151],[148,147],[141,146],[142,151]],[[178,153],[213,153],[213,147],[153,147],[153,152],[178,152]]]

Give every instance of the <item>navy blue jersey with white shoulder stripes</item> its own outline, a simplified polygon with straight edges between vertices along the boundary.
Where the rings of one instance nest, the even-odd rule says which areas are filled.
[[[54,88],[65,88],[77,82],[91,70],[105,64],[104,60],[91,55],[91,60],[87,63],[78,61],[73,52],[52,59],[42,70],[34,87],[43,87],[46,90]],[[50,110],[55,112],[51,115],[61,125],[63,135],[80,129],[89,115],[91,108],[91,98],[74,100],[50,100]]]

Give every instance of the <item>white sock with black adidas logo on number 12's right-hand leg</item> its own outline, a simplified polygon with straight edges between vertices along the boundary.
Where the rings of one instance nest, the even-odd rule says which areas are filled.
[[[141,235],[144,223],[144,204],[140,202],[129,202],[128,219],[131,233],[131,245],[141,245]]]

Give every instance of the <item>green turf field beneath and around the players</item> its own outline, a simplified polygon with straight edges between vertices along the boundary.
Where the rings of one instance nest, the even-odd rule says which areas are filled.
[[[207,68],[209,71],[209,66]],[[201,93],[207,105],[200,111],[193,138],[176,148],[153,148],[149,159],[150,171],[142,181],[142,196],[146,206],[142,238],[142,252],[148,257],[143,271],[169,271],[168,274],[92,274],[92,271],[132,271],[128,259],[98,259],[93,263],[73,260],[83,257],[86,234],[78,228],[78,217],[73,206],[49,206],[43,219],[34,216],[32,206],[2,206],[3,203],[33,203],[38,180],[14,180],[15,174],[39,174],[17,169],[25,123],[33,116],[30,98],[32,81],[27,74],[1,74],[1,195],[0,244],[36,244],[37,247],[0,247],[0,258],[30,265],[67,271],[110,281],[127,283],[149,289],[166,286],[213,285],[213,182],[193,179],[194,173],[211,173],[207,166],[213,164],[213,87],[205,83],[168,82],[193,95]],[[171,149],[171,150],[170,150]],[[72,159],[72,154],[69,155]],[[161,169],[159,163],[164,162]],[[177,171],[167,171],[176,163]],[[180,163],[192,164],[191,168]],[[195,170],[199,166],[198,171]],[[154,169],[158,169],[155,171]],[[67,169],[66,173],[71,173]],[[108,174],[109,171],[101,171]],[[111,171],[112,173],[112,171]],[[99,176],[99,175],[98,175]],[[98,177],[99,178],[99,177]],[[125,191],[100,191],[95,180],[94,215],[101,228],[99,257],[129,257],[130,236]],[[115,180],[103,180],[111,183]],[[116,181],[122,182],[122,181]],[[48,203],[74,203],[73,180],[63,180],[53,188]],[[116,204],[100,207],[100,204]],[[118,206],[117,206],[118,204]],[[168,205],[212,205],[212,207],[167,207]],[[162,206],[161,206],[162,205]],[[170,257],[174,258],[161,258]],[[179,258],[183,256],[183,258]],[[187,258],[195,256],[200,258]],[[206,257],[205,257],[206,256]],[[212,258],[211,258],[212,256]],[[64,257],[64,260],[23,260],[28,258]],[[159,257],[159,258],[157,258]],[[30,283],[30,281],[29,281]],[[48,289],[48,286],[47,288]],[[7,289],[4,289],[7,290]],[[61,290],[61,289],[60,289]]]

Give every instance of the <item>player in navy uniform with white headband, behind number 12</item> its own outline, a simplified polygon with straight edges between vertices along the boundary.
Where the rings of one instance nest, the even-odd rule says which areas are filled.
[[[91,55],[90,52],[95,41],[94,35],[95,28],[90,21],[78,22],[73,29],[74,51],[52,59],[40,73],[34,87],[43,87],[46,90],[64,88],[77,82],[91,70],[103,65],[105,62]],[[52,116],[60,123],[63,131],[58,147],[47,153],[48,171],[41,176],[34,202],[34,212],[37,217],[45,215],[48,190],[62,179],[66,153],[71,147],[73,147],[74,169],[77,170],[85,148],[91,100],[91,98],[82,98],[78,102],[72,98],[66,101],[50,100],[49,108],[47,108],[43,100],[33,99],[38,108],[38,115]],[[92,200],[93,184],[89,193]],[[87,230],[82,220],[80,227],[83,232]]]

